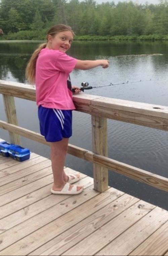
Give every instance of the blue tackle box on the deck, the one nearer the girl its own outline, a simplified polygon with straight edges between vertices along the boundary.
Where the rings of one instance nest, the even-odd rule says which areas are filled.
[[[30,158],[30,150],[22,148],[19,145],[13,145],[12,147],[10,147],[8,152],[10,157],[20,162],[28,160]]]

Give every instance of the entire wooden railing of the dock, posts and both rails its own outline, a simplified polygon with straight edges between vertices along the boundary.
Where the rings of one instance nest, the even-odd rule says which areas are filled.
[[[7,122],[0,120],[0,128],[9,131],[10,142],[21,144],[20,136],[49,145],[44,137],[17,124],[14,97],[35,101],[35,88],[31,85],[0,80]],[[93,162],[94,189],[108,189],[108,170],[168,191],[168,179],[131,165],[108,158],[107,119],[147,126],[168,131],[168,107],[134,101],[80,94],[73,97],[76,110],[92,117],[92,151],[69,144],[68,153]]]

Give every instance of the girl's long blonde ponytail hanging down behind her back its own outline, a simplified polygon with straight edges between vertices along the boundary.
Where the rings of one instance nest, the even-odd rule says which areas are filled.
[[[31,84],[35,83],[36,61],[37,61],[38,55],[40,51],[46,47],[46,45],[47,43],[42,43],[39,45],[39,47],[34,51],[26,67],[26,78]]]

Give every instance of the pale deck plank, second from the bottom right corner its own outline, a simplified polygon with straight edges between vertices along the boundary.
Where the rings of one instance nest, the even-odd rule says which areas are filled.
[[[119,237],[114,239],[112,243],[100,250],[96,255],[129,255],[167,220],[168,212],[156,207]],[[144,252],[141,255],[144,255]]]

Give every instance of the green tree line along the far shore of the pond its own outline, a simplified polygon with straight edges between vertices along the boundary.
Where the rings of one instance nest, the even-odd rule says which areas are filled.
[[[44,39],[54,24],[70,25],[77,35],[141,36],[168,34],[168,0],[159,4],[94,0],[1,0],[0,29],[3,37],[34,33]],[[2,38],[2,35],[1,35]],[[24,39],[24,38],[23,38]],[[26,38],[25,38],[26,39]]]

